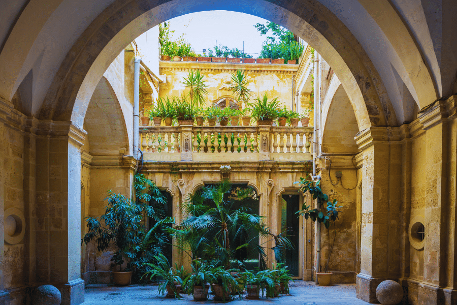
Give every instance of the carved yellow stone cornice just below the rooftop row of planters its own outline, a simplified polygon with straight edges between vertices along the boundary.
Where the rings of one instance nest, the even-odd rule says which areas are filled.
[[[206,63],[206,62],[160,62],[159,70],[162,71],[187,71],[190,69],[199,69],[203,73],[232,73],[236,70],[243,70],[247,73],[275,73],[290,74],[297,73],[297,65],[286,64],[231,64],[231,63]]]

